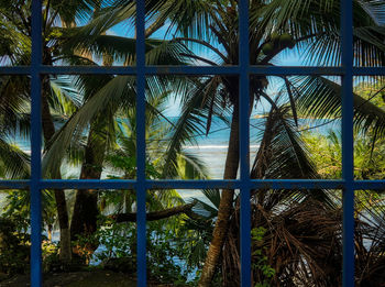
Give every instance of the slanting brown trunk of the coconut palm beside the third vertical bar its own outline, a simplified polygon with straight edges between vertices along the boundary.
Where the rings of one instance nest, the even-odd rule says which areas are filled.
[[[229,150],[226,158],[224,179],[235,179],[240,159],[239,145],[239,103],[234,101]],[[206,255],[205,265],[200,276],[199,287],[210,286],[219,257],[222,251],[224,238],[229,227],[229,219],[233,208],[233,189],[223,189],[218,209],[218,219],[212,233],[209,251]]]

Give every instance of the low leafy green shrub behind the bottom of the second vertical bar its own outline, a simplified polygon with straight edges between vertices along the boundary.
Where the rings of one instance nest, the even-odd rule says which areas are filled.
[[[147,225],[147,271],[151,279],[160,283],[173,283],[174,286],[186,286],[187,274],[182,258],[187,250],[175,241],[175,229],[167,221],[150,222]],[[136,224],[133,222],[116,223],[108,217],[101,217],[98,231],[89,238],[79,236],[75,242],[78,250],[86,250],[87,244],[96,241],[103,246],[92,256],[102,262],[108,269],[136,273]],[[176,224],[173,224],[174,228]],[[82,253],[87,261],[88,253]],[[178,263],[179,262],[179,263]]]

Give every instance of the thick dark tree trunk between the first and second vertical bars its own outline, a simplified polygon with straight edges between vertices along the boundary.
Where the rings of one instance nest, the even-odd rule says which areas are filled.
[[[96,131],[98,126],[100,126],[99,123],[94,123],[90,128],[80,179],[100,179],[105,159],[106,137],[98,134]],[[95,189],[79,189],[76,194],[70,222],[72,240],[77,240],[78,235],[91,235],[96,232],[98,216],[97,191]],[[97,246],[89,246],[89,251],[92,251],[95,247]]]

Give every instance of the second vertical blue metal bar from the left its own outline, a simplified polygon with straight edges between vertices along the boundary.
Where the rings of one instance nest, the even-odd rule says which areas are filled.
[[[136,200],[138,200],[138,286],[146,286],[145,211],[145,4],[136,0]]]

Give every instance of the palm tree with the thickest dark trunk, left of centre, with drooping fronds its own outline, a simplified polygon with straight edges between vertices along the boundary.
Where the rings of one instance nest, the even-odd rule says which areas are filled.
[[[118,1],[118,7],[121,7],[121,2]],[[61,53],[64,55],[62,56],[63,58],[72,64],[79,64],[79,56],[76,55],[80,54],[87,55],[88,62],[91,62],[92,57],[102,57],[103,64],[107,65],[114,63],[133,65],[135,63],[135,38],[106,35],[106,31],[118,23],[116,19],[122,20],[121,16],[110,16],[111,11],[119,11],[119,9],[108,7],[105,10],[98,10],[96,14],[99,16],[92,20],[90,24],[63,31],[61,36]],[[131,2],[128,2],[123,7],[123,10],[129,15],[134,14],[134,5]],[[106,18],[109,20],[106,21]],[[151,35],[154,31],[155,26],[151,26],[146,34]],[[146,58],[150,65],[186,64],[184,60],[185,56],[183,55],[190,54],[184,45],[169,41],[147,40],[146,48]],[[147,81],[148,95],[164,92],[169,86],[168,82],[166,85],[164,79],[150,78]],[[131,77],[123,76],[79,76],[78,89],[84,91],[84,108],[74,114],[63,130],[58,131],[55,135],[52,142],[56,141],[57,144],[53,144],[56,146],[54,148],[47,148],[45,156],[46,165],[44,164],[45,170],[57,170],[59,168],[61,158],[63,158],[64,152],[69,146],[68,140],[73,139],[72,136],[75,130],[77,135],[79,135],[79,131],[82,131],[88,123],[91,123],[85,147],[80,179],[99,179],[103,158],[109,148],[108,145],[113,142],[116,134],[114,125],[111,124],[113,122],[112,118],[119,110],[134,107],[135,81]],[[96,107],[96,104],[102,106]],[[103,109],[100,109],[101,107]],[[147,108],[153,109],[148,104]],[[156,110],[154,112],[158,113]],[[63,139],[65,141],[62,141]],[[72,220],[70,238],[75,240],[80,234],[95,232],[97,216],[97,194],[89,189],[78,190]]]

